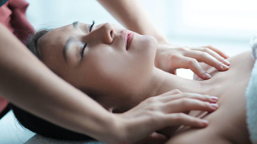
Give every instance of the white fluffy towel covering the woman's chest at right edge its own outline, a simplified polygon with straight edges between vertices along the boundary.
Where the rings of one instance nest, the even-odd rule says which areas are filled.
[[[250,42],[252,48],[252,58],[257,57],[257,34]],[[257,62],[255,61],[251,77],[245,91],[246,98],[246,121],[253,144],[257,144]]]

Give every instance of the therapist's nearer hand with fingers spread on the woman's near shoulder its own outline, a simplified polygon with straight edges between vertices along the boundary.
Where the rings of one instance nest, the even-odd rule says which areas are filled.
[[[122,114],[114,114],[120,130],[120,143],[164,143],[166,136],[154,131],[180,125],[203,128],[208,121],[189,116],[189,110],[215,111],[216,97],[195,93],[183,93],[177,89],[162,95],[150,97]],[[154,132],[154,133],[153,133]],[[117,132],[116,132],[117,133]],[[140,140],[142,139],[142,140]],[[140,140],[140,141],[138,141]]]

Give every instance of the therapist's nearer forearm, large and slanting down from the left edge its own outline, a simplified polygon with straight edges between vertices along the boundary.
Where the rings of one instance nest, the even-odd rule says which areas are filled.
[[[0,31],[1,96],[54,124],[97,139],[111,129],[111,113],[52,73],[1,24]]]

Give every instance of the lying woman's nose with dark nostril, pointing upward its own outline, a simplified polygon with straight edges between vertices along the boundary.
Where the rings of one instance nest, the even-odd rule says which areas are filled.
[[[93,30],[92,33],[95,33],[96,38],[102,43],[111,44],[113,42],[115,31],[112,24],[105,23],[99,28]]]

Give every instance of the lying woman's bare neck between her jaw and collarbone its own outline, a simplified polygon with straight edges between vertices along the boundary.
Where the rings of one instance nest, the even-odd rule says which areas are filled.
[[[204,81],[185,79],[157,68],[154,69],[153,76],[153,86],[145,98],[158,96],[173,89],[179,89],[182,92],[204,94],[212,87],[211,79]]]

